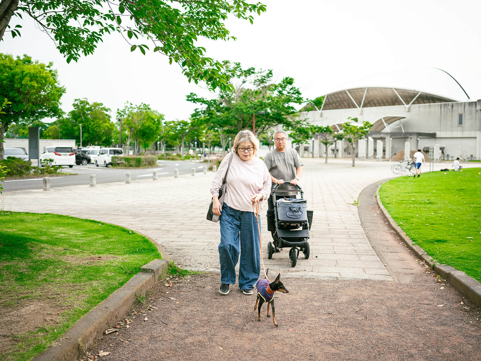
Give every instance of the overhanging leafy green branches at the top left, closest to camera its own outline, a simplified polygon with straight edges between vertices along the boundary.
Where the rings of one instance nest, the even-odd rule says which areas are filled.
[[[222,64],[205,56],[197,37],[212,40],[236,38],[224,21],[229,15],[253,23],[251,14],[266,11],[266,6],[243,0],[0,0],[0,39],[4,32],[20,36],[22,15],[32,17],[38,28],[55,43],[67,63],[92,54],[106,34],[119,32],[131,51],[152,49],[177,63],[189,82],[205,81],[211,89],[227,90],[220,74]],[[146,43],[151,44],[149,46]]]

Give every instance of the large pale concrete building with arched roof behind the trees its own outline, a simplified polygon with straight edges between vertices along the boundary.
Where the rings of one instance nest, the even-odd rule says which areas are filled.
[[[315,125],[329,125],[341,131],[348,117],[359,123],[372,123],[365,143],[357,147],[361,158],[377,158],[382,142],[382,157],[390,159],[409,142],[411,151],[439,146],[437,158],[481,159],[481,100],[459,102],[441,95],[419,90],[367,87],[335,91],[326,94],[321,109],[301,112]],[[375,145],[376,144],[376,147]],[[307,145],[307,144],[305,144]],[[337,148],[335,150],[335,148]],[[308,152],[324,156],[325,148],[316,140]],[[350,156],[352,147],[347,141],[329,147],[329,156]]]

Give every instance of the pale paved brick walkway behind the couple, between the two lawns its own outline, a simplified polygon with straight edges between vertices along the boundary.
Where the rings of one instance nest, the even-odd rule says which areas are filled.
[[[390,178],[392,163],[304,158],[300,185],[314,210],[311,256],[301,253],[292,268],[288,250],[267,259],[266,208],[262,211],[263,250],[266,268],[290,277],[322,279],[392,280],[361,227],[355,202],[367,185]],[[441,165],[444,167],[444,165]],[[441,168],[441,167],[438,167]],[[76,185],[50,192],[28,190],[0,196],[4,210],[57,213],[118,224],[141,232],[162,245],[183,268],[219,271],[219,226],[205,219],[213,174],[197,173],[132,184],[105,183],[96,187]]]

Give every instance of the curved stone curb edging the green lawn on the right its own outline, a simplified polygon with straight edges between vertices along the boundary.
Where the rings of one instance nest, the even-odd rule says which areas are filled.
[[[381,203],[379,197],[379,189],[384,183],[381,182],[376,190],[376,199],[378,205],[381,209],[381,213],[384,218],[388,221],[391,228],[396,232],[399,237],[404,241],[405,245],[414,252],[414,254],[421,260],[423,260],[434,272],[439,274],[443,279],[445,279],[451,286],[453,286],[461,295],[468,297],[468,299],[473,302],[477,307],[481,307],[481,283],[472,277],[469,277],[463,271],[458,271],[456,268],[451,266],[446,266],[437,263],[437,261],[431,258],[424,249],[418,245],[413,245],[413,240],[407,236],[407,234],[397,225],[397,223],[392,219],[391,215],[386,208]]]

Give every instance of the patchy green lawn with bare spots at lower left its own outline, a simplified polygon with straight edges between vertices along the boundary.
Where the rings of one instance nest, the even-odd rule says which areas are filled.
[[[0,310],[18,317],[41,305],[51,315],[42,327],[14,334],[0,360],[29,360],[42,352],[155,258],[161,255],[151,241],[122,227],[0,212]]]

